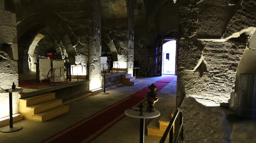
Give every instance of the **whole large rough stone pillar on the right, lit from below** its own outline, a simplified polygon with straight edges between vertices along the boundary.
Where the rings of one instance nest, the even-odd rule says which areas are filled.
[[[177,105],[183,97],[191,96],[207,106],[218,106],[218,103],[227,103],[234,91],[247,37],[237,33],[235,38],[220,39],[228,23],[226,20],[240,4],[230,5],[229,2],[179,0]],[[209,17],[206,17],[207,12]],[[209,40],[211,38],[218,39]]]

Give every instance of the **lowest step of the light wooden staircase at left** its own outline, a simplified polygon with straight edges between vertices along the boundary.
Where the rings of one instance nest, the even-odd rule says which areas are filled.
[[[69,106],[61,105],[41,113],[31,115],[31,120],[44,122],[46,120],[52,119],[58,115],[61,115],[67,112],[69,112]]]

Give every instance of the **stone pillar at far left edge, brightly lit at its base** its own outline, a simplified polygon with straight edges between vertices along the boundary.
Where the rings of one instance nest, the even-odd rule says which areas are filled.
[[[0,87],[12,88],[12,83],[18,83],[18,44],[16,31],[16,15],[12,3],[5,7],[0,0]],[[19,113],[19,94],[12,93],[13,114]],[[9,94],[0,93],[0,118],[9,116]]]

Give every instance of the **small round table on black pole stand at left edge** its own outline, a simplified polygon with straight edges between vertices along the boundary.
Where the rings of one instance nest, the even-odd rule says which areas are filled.
[[[1,132],[15,132],[22,129],[22,126],[13,126],[13,119],[12,119],[12,92],[21,92],[21,91],[23,91],[22,88],[0,90],[0,93],[9,93],[9,109],[10,109],[10,123],[9,123],[10,126],[2,129]]]

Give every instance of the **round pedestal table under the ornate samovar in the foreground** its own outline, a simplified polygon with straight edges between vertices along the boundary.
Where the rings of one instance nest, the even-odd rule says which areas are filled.
[[[132,108],[132,109],[138,109],[138,108]],[[127,116],[133,117],[133,118],[139,118],[140,119],[140,143],[144,143],[144,132],[145,132],[145,119],[150,119],[150,118],[156,118],[160,116],[160,112],[158,110],[153,111],[150,113],[150,111],[144,110],[144,116],[139,115],[140,111],[132,110],[132,109],[127,109],[125,110],[125,114]]]

